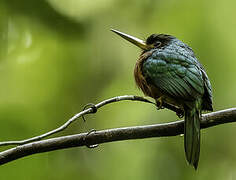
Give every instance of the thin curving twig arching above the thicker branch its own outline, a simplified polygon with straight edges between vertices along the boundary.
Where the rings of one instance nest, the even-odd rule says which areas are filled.
[[[102,101],[102,102],[100,102],[100,103],[98,103],[94,106],[95,106],[96,109],[99,109],[99,108],[101,108],[102,106],[104,106],[106,104],[110,104],[110,103],[114,103],[114,102],[118,102],[118,101],[124,101],[124,100],[141,101],[141,102],[151,103],[151,104],[154,104],[154,105],[157,105],[157,106],[159,105],[159,104],[155,104],[155,103],[153,103],[153,102],[151,102],[151,101],[149,101],[149,100],[147,100],[143,97],[140,97],[140,96],[124,95],[124,96],[117,96],[117,97],[113,97],[113,98],[110,98],[110,99],[106,99],[106,100],[104,100],[104,101]],[[181,113],[181,110],[179,108],[175,107],[175,106],[172,106],[172,105],[169,105],[169,104],[163,104],[163,107],[166,107],[167,109],[175,111],[176,113]],[[53,134],[56,134],[56,133],[59,133],[59,132],[65,130],[71,123],[73,123],[79,117],[84,116],[85,114],[91,114],[91,113],[95,113],[94,109],[92,107],[79,112],[78,114],[76,114],[72,118],[70,118],[68,121],[66,121],[66,123],[64,123],[62,126],[56,128],[52,131],[49,131],[49,132],[44,133],[42,135],[35,136],[35,137],[25,139],[25,140],[3,141],[3,142],[0,142],[0,146],[22,145],[22,144],[27,144],[27,143],[30,143],[30,142],[42,140],[46,137],[49,137]]]

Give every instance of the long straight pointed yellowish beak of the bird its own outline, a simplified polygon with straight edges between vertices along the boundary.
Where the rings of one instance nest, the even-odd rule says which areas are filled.
[[[143,50],[148,50],[148,46],[145,43],[145,41],[138,39],[136,37],[130,36],[128,34],[122,33],[120,31],[117,31],[115,29],[111,29],[112,32],[118,34],[119,36],[121,36],[122,38],[126,39],[127,41],[133,43],[134,45],[138,46],[139,48],[143,49]]]

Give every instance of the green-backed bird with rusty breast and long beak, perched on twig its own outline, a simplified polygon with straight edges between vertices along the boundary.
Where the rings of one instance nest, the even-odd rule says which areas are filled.
[[[152,34],[146,41],[111,29],[142,49],[134,77],[147,96],[177,106],[184,111],[184,148],[188,163],[197,169],[200,155],[200,116],[213,111],[208,76],[193,50],[166,34]]]

